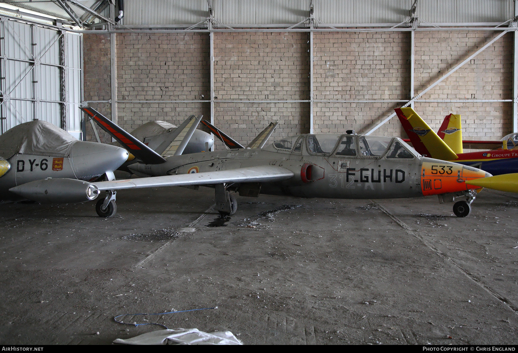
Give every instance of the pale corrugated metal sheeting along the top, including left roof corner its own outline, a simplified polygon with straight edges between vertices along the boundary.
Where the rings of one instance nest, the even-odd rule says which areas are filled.
[[[71,21],[48,0],[4,3]],[[92,6],[95,0],[82,1]],[[409,18],[413,0],[313,0],[314,18],[332,25],[397,24]],[[79,16],[84,14],[68,3]],[[229,26],[296,24],[309,17],[310,0],[213,0],[214,19]],[[207,0],[124,0],[122,24],[189,26],[208,17]],[[501,23],[513,18],[513,0],[419,0],[416,16],[423,24]]]

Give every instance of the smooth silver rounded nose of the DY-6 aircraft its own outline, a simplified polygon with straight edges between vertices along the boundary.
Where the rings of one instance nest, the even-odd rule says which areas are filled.
[[[77,141],[72,146],[70,157],[77,178],[90,180],[119,168],[127,160],[128,152],[109,144]]]

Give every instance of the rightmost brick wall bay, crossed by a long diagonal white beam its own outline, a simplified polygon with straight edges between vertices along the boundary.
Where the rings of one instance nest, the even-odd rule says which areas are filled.
[[[421,92],[497,36],[495,32],[416,32],[415,92]],[[508,33],[430,90],[424,99],[512,99],[513,34]],[[463,137],[499,139],[511,133],[512,102],[416,102],[437,130],[444,116],[461,114]]]

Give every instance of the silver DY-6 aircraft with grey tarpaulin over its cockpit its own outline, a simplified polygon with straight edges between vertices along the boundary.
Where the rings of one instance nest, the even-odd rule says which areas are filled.
[[[113,171],[127,158],[128,153],[120,147],[79,141],[51,123],[23,123],[0,136],[0,200],[23,199],[9,189],[46,178],[60,180],[65,189],[71,179],[87,188],[89,181],[103,175],[113,180]],[[90,187],[85,197],[93,200],[97,197],[94,193],[98,191]],[[64,193],[56,201],[73,202],[75,197]]]

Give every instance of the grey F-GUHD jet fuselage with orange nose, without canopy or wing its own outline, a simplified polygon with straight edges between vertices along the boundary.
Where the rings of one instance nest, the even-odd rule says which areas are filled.
[[[171,156],[163,164],[138,164],[131,169],[141,176],[161,176],[261,165],[279,166],[295,174],[289,180],[263,183],[261,194],[297,197],[367,199],[458,193],[468,189],[466,179],[490,176],[476,168],[426,157],[310,155],[304,149],[291,153],[271,146]]]

